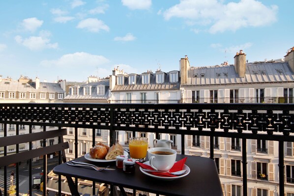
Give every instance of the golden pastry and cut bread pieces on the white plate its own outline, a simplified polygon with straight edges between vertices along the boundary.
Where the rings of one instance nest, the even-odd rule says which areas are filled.
[[[123,155],[123,148],[119,143],[108,147],[107,145],[99,142],[90,149],[89,154],[93,159],[112,160],[116,159],[118,155]]]

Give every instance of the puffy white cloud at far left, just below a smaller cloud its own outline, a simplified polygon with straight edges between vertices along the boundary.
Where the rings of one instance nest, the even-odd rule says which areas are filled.
[[[40,36],[30,36],[29,38],[24,39],[22,36],[17,35],[14,39],[18,44],[21,44],[32,51],[57,49],[58,43],[50,43],[51,40],[48,38],[49,36],[51,36],[49,31],[41,31]]]

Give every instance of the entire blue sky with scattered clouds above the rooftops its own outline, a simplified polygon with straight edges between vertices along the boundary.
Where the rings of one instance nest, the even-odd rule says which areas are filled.
[[[283,58],[294,0],[1,0],[0,75],[86,81]]]

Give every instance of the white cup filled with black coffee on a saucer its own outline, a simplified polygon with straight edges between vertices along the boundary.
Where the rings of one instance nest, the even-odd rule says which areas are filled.
[[[150,166],[155,170],[168,171],[176,162],[176,150],[164,147],[155,147],[148,150]]]

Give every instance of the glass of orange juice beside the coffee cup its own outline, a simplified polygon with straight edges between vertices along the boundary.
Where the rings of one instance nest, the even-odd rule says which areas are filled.
[[[138,162],[145,161],[148,150],[148,138],[134,137],[129,139],[130,157]]]

